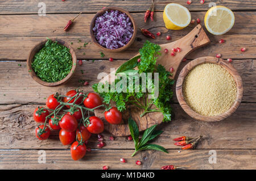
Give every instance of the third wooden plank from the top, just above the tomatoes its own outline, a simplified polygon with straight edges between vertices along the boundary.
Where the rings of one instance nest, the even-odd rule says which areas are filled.
[[[68,90],[82,86],[79,80],[90,82],[90,86],[80,87],[84,91],[92,91],[93,83],[98,82],[99,73],[110,73],[110,68],[117,68],[125,61],[83,61],[82,66],[77,66],[74,77],[64,86],[45,87],[36,83],[28,74],[26,62],[0,62],[0,104],[27,104],[45,103],[46,98],[55,93],[65,94]],[[21,66],[18,66],[20,64]],[[180,70],[187,64],[182,62]],[[234,68],[241,74],[243,80],[242,102],[256,102],[256,60],[234,60]],[[84,74],[81,73],[84,71]],[[174,87],[175,90],[175,87]],[[174,91],[175,92],[175,91]],[[177,103],[176,96],[174,102]]]

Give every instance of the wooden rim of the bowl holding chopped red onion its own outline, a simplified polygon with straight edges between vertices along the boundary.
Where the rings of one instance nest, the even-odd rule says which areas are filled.
[[[130,41],[123,47],[121,48],[117,48],[117,49],[108,49],[108,48],[105,48],[103,47],[102,45],[100,45],[98,43],[98,41],[96,40],[95,36],[94,36],[94,32],[93,32],[93,27],[94,27],[94,22],[96,20],[96,18],[102,14],[105,13],[105,11],[108,11],[108,10],[118,10],[118,11],[121,11],[123,13],[125,13],[131,20],[131,23],[133,23],[133,36],[131,37]],[[130,12],[126,11],[126,10],[123,10],[119,7],[114,7],[114,6],[111,6],[111,7],[105,7],[105,9],[101,9],[100,11],[98,11],[96,13],[96,15],[94,15],[93,19],[92,19],[92,22],[90,23],[90,37],[92,39],[92,41],[98,46],[100,47],[101,49],[103,50],[106,50],[108,52],[120,52],[122,50],[125,50],[127,49],[128,47],[130,47],[131,44],[133,44],[134,40],[135,40],[135,37],[136,37],[136,34],[137,34],[137,25],[135,23],[135,20],[133,18],[133,16],[131,16]]]

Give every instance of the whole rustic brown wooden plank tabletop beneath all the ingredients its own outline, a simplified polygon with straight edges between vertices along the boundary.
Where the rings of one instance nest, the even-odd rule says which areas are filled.
[[[39,16],[39,2],[46,4],[46,16]],[[102,133],[106,146],[97,149],[97,138],[92,136],[88,144],[92,151],[81,161],[71,159],[69,146],[63,146],[59,134],[53,132],[47,141],[39,141],[35,137],[35,121],[32,112],[46,102],[48,95],[55,92],[64,94],[68,90],[81,87],[80,79],[96,83],[98,73],[109,73],[110,68],[121,65],[134,56],[147,39],[141,32],[133,45],[121,53],[105,53],[101,58],[100,49],[94,44],[77,49],[82,42],[90,41],[89,24],[94,14],[105,6],[122,7],[131,12],[137,26],[147,28],[162,36],[152,40],[154,43],[166,43],[166,35],[175,41],[192,30],[190,24],[184,30],[167,31],[163,23],[163,9],[170,2],[184,5],[191,11],[192,19],[200,18],[203,25],[205,12],[209,2],[224,5],[234,11],[236,23],[232,30],[222,36],[209,35],[210,45],[200,48],[187,56],[188,61],[202,56],[222,54],[222,58],[232,58],[232,65],[241,74],[244,86],[243,100],[240,108],[228,119],[219,123],[204,123],[189,117],[179,106],[176,96],[172,103],[174,119],[171,123],[163,123],[160,129],[164,132],[155,143],[164,146],[169,153],[158,151],[142,151],[133,153],[133,141],[126,137],[115,137],[109,141],[109,133]],[[164,165],[176,165],[187,169],[256,169],[256,2],[245,1],[208,1],[204,5],[199,0],[166,1],[155,0],[155,22],[143,22],[144,11],[150,6],[150,0],[26,0],[0,2],[0,169],[102,169],[108,165],[110,169],[160,169]],[[82,11],[75,26],[68,32],[63,27],[69,19]],[[44,87],[36,83],[28,75],[26,58],[29,50],[46,37],[58,37],[73,42],[77,59],[83,60],[78,66],[75,77],[67,85],[60,87]],[[224,44],[218,40],[225,39]],[[246,47],[246,52],[240,49]],[[114,61],[109,62],[108,58]],[[95,61],[94,61],[95,60]],[[187,61],[187,62],[188,62]],[[180,69],[187,62],[183,62]],[[20,64],[20,65],[19,65]],[[84,71],[84,74],[81,73]],[[179,70],[180,71],[180,70]],[[84,91],[92,91],[92,87],[81,87]],[[195,150],[179,150],[172,139],[179,136],[198,136],[203,134]],[[46,151],[46,163],[38,163],[39,150]],[[209,151],[217,153],[217,163],[210,164]],[[126,158],[127,163],[121,163]],[[142,160],[141,166],[135,161]]]

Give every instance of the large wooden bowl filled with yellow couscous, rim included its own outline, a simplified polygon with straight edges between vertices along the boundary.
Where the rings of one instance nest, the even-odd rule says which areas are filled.
[[[221,58],[196,58],[181,70],[176,95],[180,106],[194,119],[221,121],[240,106],[242,78]]]

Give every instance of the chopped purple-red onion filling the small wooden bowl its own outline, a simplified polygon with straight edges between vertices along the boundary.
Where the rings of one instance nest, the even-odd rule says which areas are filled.
[[[95,20],[93,32],[100,45],[108,49],[125,46],[133,36],[133,23],[118,10],[106,11]]]

